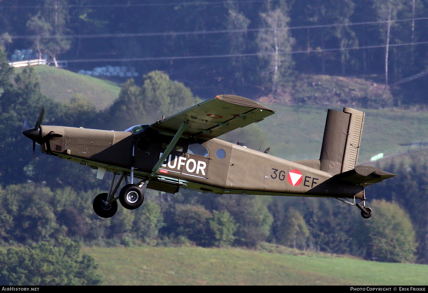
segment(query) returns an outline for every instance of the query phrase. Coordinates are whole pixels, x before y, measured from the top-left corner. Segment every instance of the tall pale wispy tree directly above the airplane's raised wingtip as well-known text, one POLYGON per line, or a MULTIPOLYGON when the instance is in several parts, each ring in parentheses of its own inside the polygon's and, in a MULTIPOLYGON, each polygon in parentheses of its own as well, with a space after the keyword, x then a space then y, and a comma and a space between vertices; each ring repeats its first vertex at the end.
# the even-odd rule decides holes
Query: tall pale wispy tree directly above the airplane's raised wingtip
POLYGON ((278 90, 278 85, 291 75, 294 66, 290 54, 294 39, 288 33, 288 12, 288 4, 281 1, 276 8, 272 8, 268 2, 265 12, 260 13, 262 30, 256 43, 261 52, 260 59, 264 60, 268 67, 273 93, 278 90))

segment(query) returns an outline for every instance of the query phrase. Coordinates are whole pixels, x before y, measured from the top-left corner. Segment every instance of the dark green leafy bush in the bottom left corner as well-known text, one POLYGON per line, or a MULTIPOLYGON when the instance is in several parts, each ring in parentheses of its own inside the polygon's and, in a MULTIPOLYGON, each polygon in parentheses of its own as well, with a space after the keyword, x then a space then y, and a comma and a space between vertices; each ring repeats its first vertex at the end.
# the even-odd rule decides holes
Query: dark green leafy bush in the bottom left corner
POLYGON ((93 257, 80 257, 80 245, 66 238, 0 251, 2 285, 98 285, 96 269, 93 257))

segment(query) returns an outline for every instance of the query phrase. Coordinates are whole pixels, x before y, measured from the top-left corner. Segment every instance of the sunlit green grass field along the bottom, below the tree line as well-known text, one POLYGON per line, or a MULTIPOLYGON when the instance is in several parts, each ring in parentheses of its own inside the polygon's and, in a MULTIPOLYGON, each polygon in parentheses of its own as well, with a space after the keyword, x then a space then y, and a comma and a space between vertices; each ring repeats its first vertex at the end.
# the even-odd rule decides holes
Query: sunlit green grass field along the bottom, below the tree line
POLYGON ((83 248, 104 285, 428 285, 428 266, 237 248, 83 248))

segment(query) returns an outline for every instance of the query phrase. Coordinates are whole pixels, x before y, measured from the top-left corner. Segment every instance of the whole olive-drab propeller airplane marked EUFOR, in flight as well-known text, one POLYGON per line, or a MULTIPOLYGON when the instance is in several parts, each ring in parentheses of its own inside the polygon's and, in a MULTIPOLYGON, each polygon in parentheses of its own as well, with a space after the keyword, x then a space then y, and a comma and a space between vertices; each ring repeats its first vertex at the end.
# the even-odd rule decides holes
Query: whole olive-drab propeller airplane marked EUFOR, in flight
POLYGON ((333 197, 356 205, 364 218, 364 188, 395 176, 375 167, 356 166, 364 112, 328 110, 319 160, 286 161, 216 137, 260 122, 274 111, 240 96, 220 95, 152 124, 125 131, 41 125, 24 135, 42 152, 106 171, 113 180, 108 193, 93 202, 97 215, 113 216, 117 199, 138 208, 146 188, 176 193, 188 188, 215 194, 265 194, 333 197), (115 183, 115 178, 120 179, 115 183), (126 185, 116 192, 125 178, 126 185), (350 200, 350 201, 347 201, 350 200), (356 200, 360 200, 356 203, 356 200))

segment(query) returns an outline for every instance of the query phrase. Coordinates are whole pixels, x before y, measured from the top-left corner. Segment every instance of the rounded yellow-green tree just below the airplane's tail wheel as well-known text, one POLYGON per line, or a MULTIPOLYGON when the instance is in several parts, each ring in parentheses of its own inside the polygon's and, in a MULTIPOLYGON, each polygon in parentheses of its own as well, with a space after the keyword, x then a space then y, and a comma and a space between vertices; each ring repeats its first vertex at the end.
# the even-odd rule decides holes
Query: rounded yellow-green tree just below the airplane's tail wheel
POLYGON ((396 203, 373 200, 376 216, 364 221, 372 258, 384 262, 413 262, 415 232, 409 216, 396 203))

